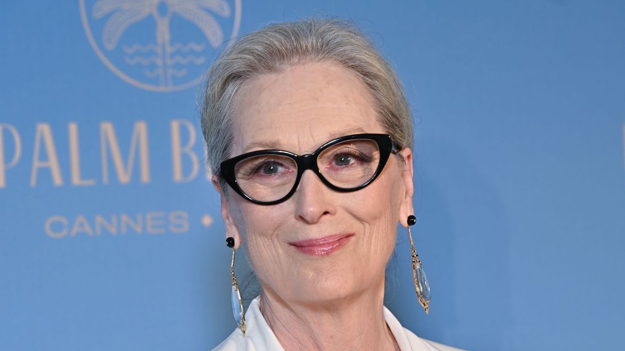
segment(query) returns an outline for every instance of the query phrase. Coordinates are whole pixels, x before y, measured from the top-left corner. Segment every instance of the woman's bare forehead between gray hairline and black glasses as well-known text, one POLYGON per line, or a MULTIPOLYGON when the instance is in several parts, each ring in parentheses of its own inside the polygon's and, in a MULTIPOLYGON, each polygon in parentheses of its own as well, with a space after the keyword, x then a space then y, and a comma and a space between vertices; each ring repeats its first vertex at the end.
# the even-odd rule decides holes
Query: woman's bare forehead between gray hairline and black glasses
POLYGON ((252 79, 234 101, 232 156, 260 149, 312 152, 334 137, 383 132, 365 84, 330 62, 252 79))

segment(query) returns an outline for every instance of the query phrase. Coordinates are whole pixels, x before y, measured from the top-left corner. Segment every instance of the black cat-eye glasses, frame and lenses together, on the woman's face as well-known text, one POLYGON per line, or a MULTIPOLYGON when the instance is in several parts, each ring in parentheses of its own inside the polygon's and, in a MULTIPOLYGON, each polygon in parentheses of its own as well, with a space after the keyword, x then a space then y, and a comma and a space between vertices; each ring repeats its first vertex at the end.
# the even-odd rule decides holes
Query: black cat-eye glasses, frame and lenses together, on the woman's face
POLYGON ((397 154, 397 146, 387 134, 353 134, 301 156, 282 150, 247 152, 221 162, 221 177, 245 199, 274 205, 294 194, 307 169, 330 189, 362 189, 382 172, 391 152, 397 154))

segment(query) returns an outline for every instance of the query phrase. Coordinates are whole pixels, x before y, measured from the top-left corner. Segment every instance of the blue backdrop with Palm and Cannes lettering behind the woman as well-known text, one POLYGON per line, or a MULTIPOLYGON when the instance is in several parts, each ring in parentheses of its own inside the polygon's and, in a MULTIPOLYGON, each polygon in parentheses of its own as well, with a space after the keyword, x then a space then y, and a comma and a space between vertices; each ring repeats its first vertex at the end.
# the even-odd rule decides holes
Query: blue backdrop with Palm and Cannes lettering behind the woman
MULTIPOLYGON (((11 1, 0 32, 0 349, 207 350, 235 327, 197 84, 267 22, 354 19, 416 121, 387 306, 470 350, 616 350, 625 2, 11 1)), ((237 262, 244 274, 245 262, 237 262)))

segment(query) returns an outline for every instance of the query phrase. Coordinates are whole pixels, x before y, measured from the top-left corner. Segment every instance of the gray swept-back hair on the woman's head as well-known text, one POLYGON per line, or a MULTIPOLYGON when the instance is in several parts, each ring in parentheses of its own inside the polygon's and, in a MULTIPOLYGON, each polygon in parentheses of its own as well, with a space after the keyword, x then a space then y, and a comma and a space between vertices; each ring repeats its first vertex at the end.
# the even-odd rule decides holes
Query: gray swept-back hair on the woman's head
MULTIPOLYGON (((250 79, 307 62, 334 62, 371 91, 379 123, 400 148, 414 144, 412 114, 396 72, 351 21, 310 18, 277 22, 242 36, 207 72, 200 107, 209 171, 220 174, 232 145, 232 104, 250 79)), ((221 189, 226 184, 220 178, 221 189)))

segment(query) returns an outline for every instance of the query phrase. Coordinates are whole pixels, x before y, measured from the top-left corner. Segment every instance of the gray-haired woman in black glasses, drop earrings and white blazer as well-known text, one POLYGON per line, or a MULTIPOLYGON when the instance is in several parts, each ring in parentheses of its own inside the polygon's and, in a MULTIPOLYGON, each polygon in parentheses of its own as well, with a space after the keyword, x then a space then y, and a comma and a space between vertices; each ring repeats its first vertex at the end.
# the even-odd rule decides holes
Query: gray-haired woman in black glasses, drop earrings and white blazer
POLYGON ((239 328, 215 350, 456 350, 383 305, 397 222, 414 224, 412 118, 360 31, 309 19, 242 37, 209 70, 201 114, 232 263, 244 245, 262 289, 243 315, 232 270, 239 328))

